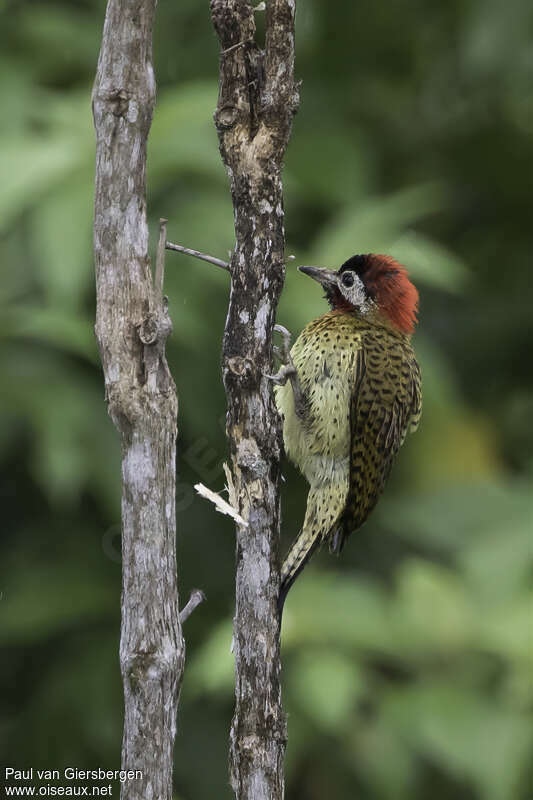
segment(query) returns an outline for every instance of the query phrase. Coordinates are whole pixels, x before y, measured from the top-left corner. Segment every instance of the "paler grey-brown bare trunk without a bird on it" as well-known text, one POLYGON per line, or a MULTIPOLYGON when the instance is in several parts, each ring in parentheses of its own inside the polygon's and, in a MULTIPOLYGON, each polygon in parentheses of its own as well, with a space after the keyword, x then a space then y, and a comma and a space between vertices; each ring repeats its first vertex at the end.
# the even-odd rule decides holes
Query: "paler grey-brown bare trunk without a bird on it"
POLYGON ((165 359, 164 225, 148 255, 146 143, 155 103, 156 0, 109 0, 96 81, 96 336, 122 443, 123 800, 171 800, 184 664, 175 552, 177 399, 165 359))

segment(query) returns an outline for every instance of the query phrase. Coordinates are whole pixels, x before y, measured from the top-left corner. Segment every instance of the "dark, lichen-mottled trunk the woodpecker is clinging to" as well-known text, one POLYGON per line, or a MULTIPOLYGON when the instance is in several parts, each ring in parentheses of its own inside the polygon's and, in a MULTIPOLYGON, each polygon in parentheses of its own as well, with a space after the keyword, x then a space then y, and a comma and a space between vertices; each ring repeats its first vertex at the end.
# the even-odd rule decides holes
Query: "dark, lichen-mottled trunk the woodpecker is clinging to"
POLYGON ((281 800, 279 526, 281 433, 272 387, 272 330, 285 277, 281 172, 292 116, 294 0, 267 0, 263 52, 248 0, 211 0, 221 45, 215 124, 235 216, 222 368, 237 525, 236 706, 230 777, 239 800, 281 800))

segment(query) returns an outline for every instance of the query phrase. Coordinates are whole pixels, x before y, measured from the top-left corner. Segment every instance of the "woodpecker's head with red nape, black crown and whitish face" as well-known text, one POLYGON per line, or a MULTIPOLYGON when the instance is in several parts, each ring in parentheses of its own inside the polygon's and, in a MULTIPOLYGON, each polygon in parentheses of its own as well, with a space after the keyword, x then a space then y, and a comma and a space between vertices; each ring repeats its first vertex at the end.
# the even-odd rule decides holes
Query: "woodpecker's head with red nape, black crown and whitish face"
POLYGON ((334 311, 378 313, 402 333, 413 333, 418 292, 405 267, 390 256, 352 256, 337 272, 322 267, 298 269, 324 287, 334 311))

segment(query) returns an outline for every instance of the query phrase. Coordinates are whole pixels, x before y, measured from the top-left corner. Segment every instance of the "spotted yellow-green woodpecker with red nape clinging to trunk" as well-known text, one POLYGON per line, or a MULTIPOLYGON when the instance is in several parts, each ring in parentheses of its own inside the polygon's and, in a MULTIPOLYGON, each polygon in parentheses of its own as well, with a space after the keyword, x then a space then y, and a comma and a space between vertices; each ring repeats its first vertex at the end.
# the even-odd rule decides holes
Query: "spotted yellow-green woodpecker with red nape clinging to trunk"
POLYGON ((390 256, 355 255, 338 271, 299 267, 325 290, 330 311, 290 348, 281 326, 271 377, 288 457, 309 483, 302 530, 283 563, 287 592, 324 542, 340 553, 376 505, 406 434, 422 409, 420 369, 410 340, 418 292, 390 256))

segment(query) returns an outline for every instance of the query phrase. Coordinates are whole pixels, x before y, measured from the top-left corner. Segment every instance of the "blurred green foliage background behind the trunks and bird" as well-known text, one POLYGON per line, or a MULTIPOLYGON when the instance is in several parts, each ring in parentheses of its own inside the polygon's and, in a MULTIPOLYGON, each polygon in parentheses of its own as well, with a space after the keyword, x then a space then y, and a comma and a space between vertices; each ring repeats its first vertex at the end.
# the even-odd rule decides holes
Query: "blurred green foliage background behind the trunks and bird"
MULTIPOLYGON (((0 752, 19 767, 120 763, 119 443, 91 253, 103 16, 102 0, 0 2, 0 752)), ((287 252, 410 268, 425 406, 371 520, 287 602, 289 800, 532 796, 532 17, 526 0, 299 5, 287 252)), ((169 238, 225 257, 207 2, 160 0, 155 62, 153 241, 166 216, 169 238)), ((185 631, 176 797, 229 798, 234 539, 192 489, 224 483, 228 277, 168 254, 166 290, 180 590, 208 596, 185 631)), ((289 265, 279 321, 323 310, 289 265)), ((306 496, 285 477, 284 547, 306 496)))

